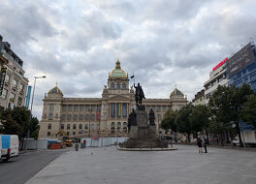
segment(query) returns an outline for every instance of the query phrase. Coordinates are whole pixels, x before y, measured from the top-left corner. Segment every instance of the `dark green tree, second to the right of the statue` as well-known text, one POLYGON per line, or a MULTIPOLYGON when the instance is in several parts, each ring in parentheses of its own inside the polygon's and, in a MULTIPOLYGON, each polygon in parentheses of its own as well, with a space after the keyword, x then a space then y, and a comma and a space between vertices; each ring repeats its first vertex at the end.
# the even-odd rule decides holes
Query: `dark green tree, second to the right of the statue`
POLYGON ((176 128, 179 133, 185 133, 188 136, 188 141, 190 142, 190 135, 192 133, 192 123, 191 123, 191 112, 193 105, 189 103, 187 106, 182 107, 176 116, 176 128))

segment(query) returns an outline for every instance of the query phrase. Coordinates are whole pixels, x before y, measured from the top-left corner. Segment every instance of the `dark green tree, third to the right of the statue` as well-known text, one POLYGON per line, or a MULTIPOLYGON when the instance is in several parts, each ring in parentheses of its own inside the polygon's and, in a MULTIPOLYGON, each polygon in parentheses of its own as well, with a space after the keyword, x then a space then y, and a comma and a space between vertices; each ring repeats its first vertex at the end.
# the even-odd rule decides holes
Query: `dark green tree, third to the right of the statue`
POLYGON ((209 110, 208 107, 204 105, 198 105, 192 107, 190 121, 191 121, 191 129, 194 135, 198 136, 198 132, 206 131, 208 136, 208 118, 209 118, 209 110))

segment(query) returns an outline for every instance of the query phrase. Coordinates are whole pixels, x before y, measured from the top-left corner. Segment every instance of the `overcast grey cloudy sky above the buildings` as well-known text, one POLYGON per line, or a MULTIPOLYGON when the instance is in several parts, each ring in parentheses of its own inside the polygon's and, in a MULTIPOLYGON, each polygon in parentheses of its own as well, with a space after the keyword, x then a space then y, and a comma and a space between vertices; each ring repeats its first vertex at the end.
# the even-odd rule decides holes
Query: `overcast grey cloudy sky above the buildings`
POLYGON ((101 97, 121 67, 146 98, 169 98, 175 85, 192 100, 211 69, 256 39, 255 0, 0 0, 0 34, 37 80, 33 112, 45 93, 101 97))

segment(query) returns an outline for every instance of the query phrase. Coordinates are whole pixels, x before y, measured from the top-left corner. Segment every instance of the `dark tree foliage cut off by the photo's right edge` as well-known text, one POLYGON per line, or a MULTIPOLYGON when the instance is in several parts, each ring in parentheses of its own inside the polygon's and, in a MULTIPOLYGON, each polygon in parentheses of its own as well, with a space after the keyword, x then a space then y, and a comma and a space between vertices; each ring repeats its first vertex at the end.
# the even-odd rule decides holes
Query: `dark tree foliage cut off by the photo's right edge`
POLYGON ((247 97, 247 101, 241 107, 241 119, 256 127, 256 95, 247 97))

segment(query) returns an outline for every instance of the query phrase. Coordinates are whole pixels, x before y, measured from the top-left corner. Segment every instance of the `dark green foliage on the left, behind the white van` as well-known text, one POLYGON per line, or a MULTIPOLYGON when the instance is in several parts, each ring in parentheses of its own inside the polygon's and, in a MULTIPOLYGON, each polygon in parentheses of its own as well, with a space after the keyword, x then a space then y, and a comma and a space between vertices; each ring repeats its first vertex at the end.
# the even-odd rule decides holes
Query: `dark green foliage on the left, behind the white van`
POLYGON ((31 138, 38 137, 39 121, 36 117, 31 118, 30 110, 25 107, 3 110, 0 120, 3 124, 0 128, 2 134, 13 134, 18 135, 19 138, 25 138, 29 130, 31 138))

